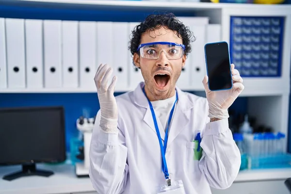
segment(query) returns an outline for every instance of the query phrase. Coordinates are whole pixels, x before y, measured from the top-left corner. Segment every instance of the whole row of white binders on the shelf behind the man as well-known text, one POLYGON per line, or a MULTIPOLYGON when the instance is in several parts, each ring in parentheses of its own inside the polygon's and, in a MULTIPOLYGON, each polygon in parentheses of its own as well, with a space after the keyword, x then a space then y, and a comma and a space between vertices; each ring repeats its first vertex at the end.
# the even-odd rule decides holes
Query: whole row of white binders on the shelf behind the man
MULTIPOLYGON (((180 19, 194 32, 196 41, 178 85, 203 87, 204 45, 220 41, 221 27, 209 24, 207 17, 180 19)), ((137 24, 0 18, 0 88, 92 89, 101 63, 113 67, 117 90, 134 88, 143 81, 128 49, 137 24)))

